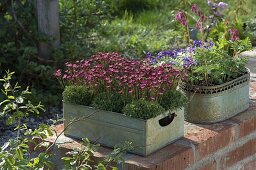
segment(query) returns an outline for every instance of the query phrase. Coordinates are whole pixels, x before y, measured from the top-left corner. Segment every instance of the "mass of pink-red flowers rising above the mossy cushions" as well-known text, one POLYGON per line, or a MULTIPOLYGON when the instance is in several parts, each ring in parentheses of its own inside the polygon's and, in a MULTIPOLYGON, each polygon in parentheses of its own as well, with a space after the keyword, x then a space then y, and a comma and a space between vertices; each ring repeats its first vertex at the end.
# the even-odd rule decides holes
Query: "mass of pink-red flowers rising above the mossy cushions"
POLYGON ((134 99, 157 100, 176 89, 185 78, 181 69, 170 64, 153 67, 143 60, 123 58, 119 53, 98 53, 89 59, 66 63, 66 70, 55 73, 65 82, 84 85, 100 92, 118 92, 134 99))

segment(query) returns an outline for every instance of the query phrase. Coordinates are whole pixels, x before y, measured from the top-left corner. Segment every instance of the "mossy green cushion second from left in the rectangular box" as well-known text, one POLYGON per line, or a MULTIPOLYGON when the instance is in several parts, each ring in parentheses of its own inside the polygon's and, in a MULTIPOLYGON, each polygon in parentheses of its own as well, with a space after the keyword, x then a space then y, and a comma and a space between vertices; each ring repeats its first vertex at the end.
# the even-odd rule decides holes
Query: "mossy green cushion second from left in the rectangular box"
POLYGON ((119 93, 103 92, 95 96, 92 105, 98 109, 121 113, 125 102, 119 93))

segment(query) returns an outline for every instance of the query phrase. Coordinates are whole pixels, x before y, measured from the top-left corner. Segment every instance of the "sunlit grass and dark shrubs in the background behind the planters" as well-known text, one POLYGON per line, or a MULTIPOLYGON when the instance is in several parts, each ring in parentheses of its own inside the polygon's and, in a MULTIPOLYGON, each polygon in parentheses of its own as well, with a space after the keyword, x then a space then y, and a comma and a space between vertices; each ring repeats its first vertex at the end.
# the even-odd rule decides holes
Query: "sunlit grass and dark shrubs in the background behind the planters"
MULTIPOLYGON (((66 61, 96 52, 121 52, 127 57, 143 57, 182 46, 183 37, 174 20, 178 9, 201 0, 60 0, 61 48, 47 60, 38 57, 38 41, 47 40, 37 32, 31 0, 0 2, 0 74, 10 69, 22 86, 30 86, 31 101, 46 105, 61 103, 61 86, 52 76, 66 61), (35 97, 36 96, 36 97, 35 97)), ((225 0, 230 13, 247 23, 251 38, 256 37, 256 4, 253 0, 225 0), (243 10, 238 3, 245 3, 243 10), (245 10, 245 11, 244 11, 245 10)), ((1 97, 0 97, 1 98, 1 97)))

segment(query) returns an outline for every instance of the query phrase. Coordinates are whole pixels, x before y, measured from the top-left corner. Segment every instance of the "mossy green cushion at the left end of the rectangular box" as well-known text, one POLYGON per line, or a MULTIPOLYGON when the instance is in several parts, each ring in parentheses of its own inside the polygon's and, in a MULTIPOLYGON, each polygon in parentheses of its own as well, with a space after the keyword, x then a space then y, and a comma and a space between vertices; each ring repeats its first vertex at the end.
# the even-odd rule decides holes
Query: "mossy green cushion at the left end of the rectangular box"
POLYGON ((85 86, 66 86, 63 92, 63 101, 73 104, 90 106, 93 100, 93 91, 85 86))

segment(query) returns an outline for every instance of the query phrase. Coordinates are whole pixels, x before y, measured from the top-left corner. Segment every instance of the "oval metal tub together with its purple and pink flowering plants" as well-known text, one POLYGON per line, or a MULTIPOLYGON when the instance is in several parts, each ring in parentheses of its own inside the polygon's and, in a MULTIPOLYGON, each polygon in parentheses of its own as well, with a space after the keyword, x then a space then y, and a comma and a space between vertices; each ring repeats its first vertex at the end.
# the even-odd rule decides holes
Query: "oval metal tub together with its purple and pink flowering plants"
POLYGON ((187 47, 150 56, 153 65, 180 60, 189 66, 182 86, 189 98, 185 119, 195 123, 219 122, 249 107, 247 59, 240 54, 251 49, 250 39, 240 34, 232 17, 225 15, 228 4, 207 3, 208 12, 196 4, 191 5, 190 12, 177 12, 187 47), (195 40, 190 36, 193 24, 195 40))

